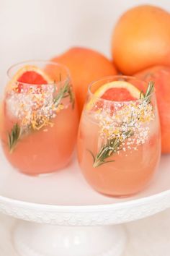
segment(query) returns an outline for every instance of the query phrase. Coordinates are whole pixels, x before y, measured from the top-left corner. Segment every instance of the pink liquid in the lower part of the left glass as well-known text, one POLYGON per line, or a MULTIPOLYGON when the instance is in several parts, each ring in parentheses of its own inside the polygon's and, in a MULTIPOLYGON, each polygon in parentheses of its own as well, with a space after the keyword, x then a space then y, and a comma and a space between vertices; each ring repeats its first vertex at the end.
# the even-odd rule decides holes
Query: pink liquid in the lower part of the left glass
POLYGON ((5 105, 2 113, 1 140, 9 163, 24 174, 47 174, 63 168, 71 160, 76 142, 78 118, 71 104, 52 119, 50 125, 23 135, 12 153, 9 151, 8 132, 17 119, 9 116, 5 105))

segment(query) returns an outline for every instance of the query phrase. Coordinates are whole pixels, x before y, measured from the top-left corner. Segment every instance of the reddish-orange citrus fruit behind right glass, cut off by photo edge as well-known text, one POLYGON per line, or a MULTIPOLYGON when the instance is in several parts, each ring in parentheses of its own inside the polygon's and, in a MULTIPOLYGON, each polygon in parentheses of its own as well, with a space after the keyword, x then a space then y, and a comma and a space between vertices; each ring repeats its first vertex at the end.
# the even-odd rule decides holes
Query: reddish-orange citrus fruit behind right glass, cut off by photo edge
POLYGON ((170 67, 156 66, 135 74, 139 79, 153 80, 161 121, 162 153, 170 153, 170 67))

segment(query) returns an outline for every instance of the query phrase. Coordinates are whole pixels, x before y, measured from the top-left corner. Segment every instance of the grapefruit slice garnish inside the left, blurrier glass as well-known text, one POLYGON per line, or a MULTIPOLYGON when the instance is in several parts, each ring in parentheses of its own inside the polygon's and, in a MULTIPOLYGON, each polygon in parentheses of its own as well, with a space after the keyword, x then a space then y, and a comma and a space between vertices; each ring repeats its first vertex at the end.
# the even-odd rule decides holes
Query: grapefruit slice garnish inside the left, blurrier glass
POLYGON ((12 80, 7 85, 7 90, 15 88, 18 93, 21 93, 22 88, 24 88, 26 84, 28 86, 39 85, 37 88, 40 88, 40 85, 53 84, 53 80, 51 80, 42 69, 27 65, 14 74, 14 77, 12 77, 12 80))

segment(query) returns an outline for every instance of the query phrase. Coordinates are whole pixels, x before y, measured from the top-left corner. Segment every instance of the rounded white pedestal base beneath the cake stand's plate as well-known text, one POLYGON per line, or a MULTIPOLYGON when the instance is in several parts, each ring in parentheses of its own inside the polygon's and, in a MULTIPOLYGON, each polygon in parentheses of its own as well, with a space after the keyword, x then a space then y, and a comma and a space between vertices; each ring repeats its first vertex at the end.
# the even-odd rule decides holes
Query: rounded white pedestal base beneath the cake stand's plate
POLYGON ((113 256, 125 247, 120 226, 50 226, 20 223, 14 244, 23 256, 113 256))

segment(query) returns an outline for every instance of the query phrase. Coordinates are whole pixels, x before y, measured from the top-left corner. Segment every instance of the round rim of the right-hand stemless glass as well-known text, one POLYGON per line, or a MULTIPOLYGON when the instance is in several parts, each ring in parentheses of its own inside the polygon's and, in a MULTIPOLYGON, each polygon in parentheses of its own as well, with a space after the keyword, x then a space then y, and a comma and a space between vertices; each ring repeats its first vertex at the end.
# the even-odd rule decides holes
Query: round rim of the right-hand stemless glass
MULTIPOLYGON (((147 84, 148 82, 146 82, 145 80, 141 80, 141 79, 138 79, 137 77, 133 77, 133 76, 128 76, 128 75, 123 75, 123 74, 116 74, 116 75, 110 75, 110 76, 106 76, 106 77, 102 77, 101 79, 99 80, 95 80, 93 82, 91 82, 89 84, 89 87, 88 87, 88 94, 91 95, 92 98, 96 98, 98 99, 99 101, 104 101, 106 103, 112 103, 112 104, 118 104, 118 103, 124 103, 124 104, 127 104, 127 103, 132 103, 132 102, 138 102, 138 101, 141 101, 140 98, 137 98, 135 100, 130 100, 130 101, 112 101, 112 100, 107 100, 107 99, 104 99, 104 98, 100 98, 98 97, 97 95, 94 95, 94 93, 91 91, 91 88, 92 86, 97 83, 97 82, 102 82, 102 80, 112 80, 112 79, 116 79, 115 81, 118 81, 118 79, 132 79, 132 80, 135 80, 135 81, 140 81, 140 82, 143 82, 145 84, 147 84)), ((121 80, 120 80, 121 81, 121 80)), ((122 80, 124 81, 124 80, 122 80)), ((108 82, 112 82, 112 81, 108 81, 108 82)), ((102 85, 101 85, 102 86, 102 85)), ((134 85, 135 86, 135 85, 134 85)), ((143 91, 140 91, 140 92, 143 92, 143 91)), ((156 93, 156 90, 155 90, 155 87, 153 88, 153 92, 150 94, 150 97, 152 97, 153 95, 155 95, 156 93)))

